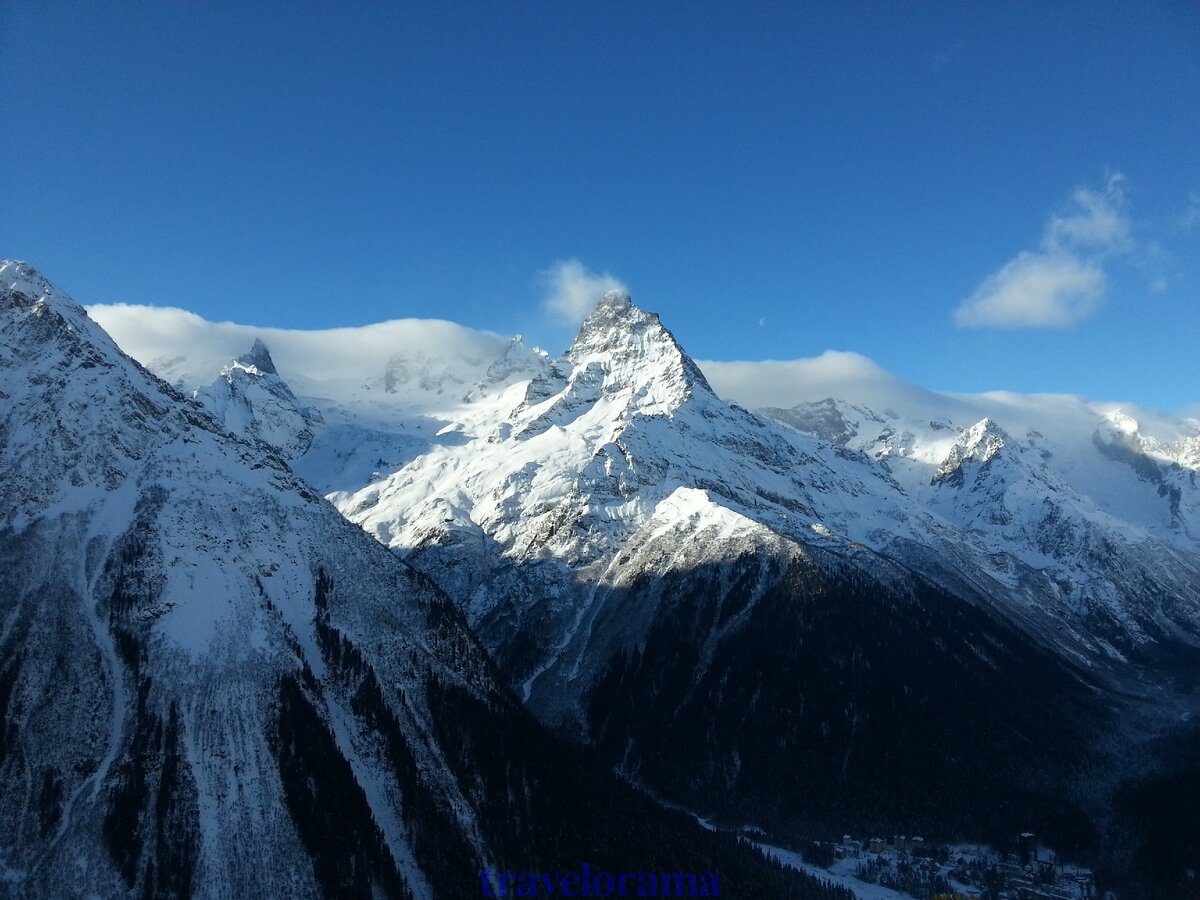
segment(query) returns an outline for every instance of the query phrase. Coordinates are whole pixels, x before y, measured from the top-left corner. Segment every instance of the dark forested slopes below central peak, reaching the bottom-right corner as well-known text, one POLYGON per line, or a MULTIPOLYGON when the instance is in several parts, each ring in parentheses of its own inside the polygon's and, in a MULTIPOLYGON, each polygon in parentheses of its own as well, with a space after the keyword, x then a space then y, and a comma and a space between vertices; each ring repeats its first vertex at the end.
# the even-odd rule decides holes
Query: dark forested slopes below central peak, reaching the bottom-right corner
MULTIPOLYGON (((791 560, 756 586, 760 562, 620 592, 613 614, 648 599, 655 613, 584 697, 582 734, 602 758, 786 845, 899 833, 1014 848, 1034 832, 1122 898, 1194 896, 1190 718, 1164 724, 1111 673, 911 572, 889 583, 845 559, 791 560), (756 587, 732 636, 695 637, 756 587)), ((1159 685, 1200 672, 1183 652, 1156 662, 1159 685)))

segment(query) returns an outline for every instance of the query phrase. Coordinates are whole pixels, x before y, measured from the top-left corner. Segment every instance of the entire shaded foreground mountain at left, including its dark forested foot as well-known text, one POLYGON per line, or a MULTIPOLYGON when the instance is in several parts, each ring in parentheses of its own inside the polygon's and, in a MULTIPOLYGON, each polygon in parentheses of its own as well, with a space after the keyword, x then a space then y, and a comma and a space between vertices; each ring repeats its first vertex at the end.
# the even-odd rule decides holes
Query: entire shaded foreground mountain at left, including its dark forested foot
POLYGON ((460 898, 587 863, 846 896, 552 737, 270 446, 0 280, 0 894, 460 898))

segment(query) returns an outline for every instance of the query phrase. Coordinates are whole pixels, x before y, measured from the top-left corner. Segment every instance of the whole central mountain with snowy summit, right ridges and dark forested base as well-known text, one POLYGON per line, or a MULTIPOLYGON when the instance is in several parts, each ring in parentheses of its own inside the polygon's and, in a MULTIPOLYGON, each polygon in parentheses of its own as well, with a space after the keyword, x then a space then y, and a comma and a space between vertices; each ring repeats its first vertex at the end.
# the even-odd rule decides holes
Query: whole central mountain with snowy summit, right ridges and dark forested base
POLYGON ((1134 732, 1195 708, 1200 424, 930 392, 751 413, 619 293, 518 356, 452 402, 418 384, 390 456, 314 401, 293 464, 662 796, 793 836, 1086 844, 1134 732))

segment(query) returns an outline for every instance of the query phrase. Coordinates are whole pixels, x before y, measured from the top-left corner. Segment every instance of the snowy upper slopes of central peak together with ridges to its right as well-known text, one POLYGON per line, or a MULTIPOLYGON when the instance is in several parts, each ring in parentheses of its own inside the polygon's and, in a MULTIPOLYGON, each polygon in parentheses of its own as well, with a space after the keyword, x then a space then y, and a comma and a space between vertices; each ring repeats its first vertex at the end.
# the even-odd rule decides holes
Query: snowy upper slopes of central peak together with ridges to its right
MULTIPOLYGON (((865 546, 918 570, 936 558, 998 608, 1066 629, 1062 640, 1088 652, 1196 640, 1200 563, 1187 502, 1174 518, 1150 508, 1142 521, 1121 518, 1050 467, 1040 436, 1018 442, 990 419, 918 427, 835 401, 768 413, 792 427, 721 402, 658 317, 613 294, 488 430, 476 424, 466 443, 431 448, 334 499, 462 598, 502 659, 510 644, 522 648, 510 662, 535 706, 558 708, 564 694, 587 690, 580 644, 596 640, 598 592, 628 580, 629 560, 656 535, 670 534, 662 553, 635 575, 661 574, 673 559, 695 565, 679 545, 726 558, 706 540, 718 522, 740 522, 763 546, 865 546), (538 571, 539 587, 516 568, 538 571), (583 598, 578 582, 592 586, 583 598), (577 684, 558 683, 564 665, 577 684)), ((1112 466, 1092 442, 1080 452, 1112 466)), ((593 649, 600 659, 612 650, 593 649)))

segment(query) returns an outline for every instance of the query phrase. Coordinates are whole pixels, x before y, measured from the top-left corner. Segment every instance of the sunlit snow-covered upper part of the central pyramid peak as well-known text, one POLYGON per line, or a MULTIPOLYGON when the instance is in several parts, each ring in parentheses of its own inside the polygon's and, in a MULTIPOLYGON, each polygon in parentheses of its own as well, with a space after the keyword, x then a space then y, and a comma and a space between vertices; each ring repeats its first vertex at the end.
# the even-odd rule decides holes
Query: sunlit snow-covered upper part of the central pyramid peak
POLYGON ((419 554, 502 656, 510 642, 544 642, 516 665, 527 695, 545 680, 545 703, 564 700, 547 673, 578 672, 574 644, 590 640, 595 595, 619 587, 634 554, 635 574, 661 574, 690 564, 677 545, 692 532, 775 542, 774 528, 838 544, 911 533, 878 470, 722 403, 626 295, 608 295, 570 350, 506 398, 478 437, 334 499, 419 554), (582 604, 580 581, 592 586, 582 604))

